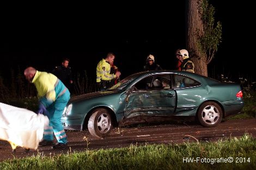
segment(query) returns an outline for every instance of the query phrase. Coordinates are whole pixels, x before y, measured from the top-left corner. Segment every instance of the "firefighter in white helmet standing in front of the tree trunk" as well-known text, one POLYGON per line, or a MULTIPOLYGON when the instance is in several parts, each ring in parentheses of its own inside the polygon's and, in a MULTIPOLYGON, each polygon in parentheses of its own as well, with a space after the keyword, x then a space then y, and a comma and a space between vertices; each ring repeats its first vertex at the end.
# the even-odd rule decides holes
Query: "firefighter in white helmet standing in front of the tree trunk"
POLYGON ((194 63, 186 49, 176 51, 176 58, 178 59, 178 70, 194 73, 194 63))

